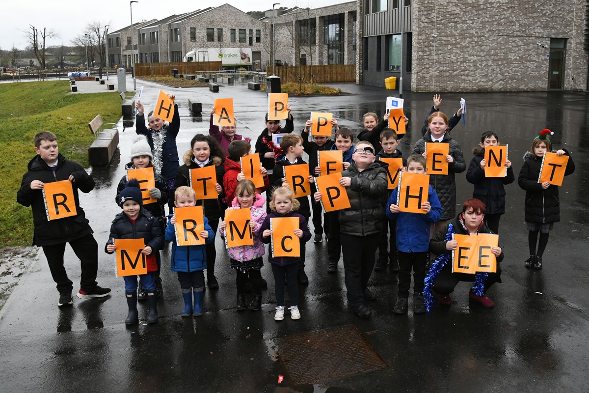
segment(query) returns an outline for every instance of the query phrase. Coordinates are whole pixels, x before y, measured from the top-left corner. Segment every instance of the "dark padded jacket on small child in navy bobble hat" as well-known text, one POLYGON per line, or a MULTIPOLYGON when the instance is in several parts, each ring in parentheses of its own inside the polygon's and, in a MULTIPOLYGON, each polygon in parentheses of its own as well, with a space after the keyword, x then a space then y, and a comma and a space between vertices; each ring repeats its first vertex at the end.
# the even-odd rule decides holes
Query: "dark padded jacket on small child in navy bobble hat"
POLYGON ((141 207, 135 224, 131 222, 125 212, 118 213, 111 224, 108 242, 104 245, 104 252, 107 246, 112 245, 112 239, 143 239, 145 247, 150 246, 154 252, 158 252, 164 246, 164 234, 161 232, 160 222, 144 207, 141 207))

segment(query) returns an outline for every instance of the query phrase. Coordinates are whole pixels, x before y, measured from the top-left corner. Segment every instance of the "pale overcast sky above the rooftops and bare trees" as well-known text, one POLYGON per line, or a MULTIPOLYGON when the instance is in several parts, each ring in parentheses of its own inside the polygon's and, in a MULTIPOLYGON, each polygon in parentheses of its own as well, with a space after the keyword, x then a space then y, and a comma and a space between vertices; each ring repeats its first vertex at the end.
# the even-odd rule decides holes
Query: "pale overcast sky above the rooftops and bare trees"
MULTIPOLYGON (((265 11, 272 9, 273 2, 280 2, 277 7, 319 8, 343 3, 346 0, 139 0, 133 4, 133 21, 163 19, 169 15, 225 3, 241 11, 265 11)), ((71 39, 83 32, 84 27, 92 21, 101 22, 102 25, 110 24, 109 31, 131 24, 128 0, 31 0, 23 3, 2 1, 2 15, 4 19, 0 24, 0 48, 4 50, 11 49, 13 45, 19 49, 27 47, 28 41, 24 31, 28 30, 29 25, 57 32, 59 37, 51 39, 47 45, 49 46, 71 45, 71 39)))

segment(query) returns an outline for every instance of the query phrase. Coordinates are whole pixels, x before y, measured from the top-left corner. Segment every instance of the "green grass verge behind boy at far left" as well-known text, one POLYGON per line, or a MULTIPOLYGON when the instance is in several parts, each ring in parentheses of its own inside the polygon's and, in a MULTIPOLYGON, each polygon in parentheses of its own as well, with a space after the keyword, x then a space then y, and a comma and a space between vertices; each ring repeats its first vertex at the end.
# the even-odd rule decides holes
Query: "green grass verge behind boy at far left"
POLYGON ((0 247, 31 245, 31 208, 16 202, 16 191, 35 156, 34 135, 51 131, 59 153, 88 167, 88 146, 94 140, 88 123, 97 114, 105 123, 117 123, 121 97, 116 92, 71 94, 69 81, 2 83, 0 96, 0 247))

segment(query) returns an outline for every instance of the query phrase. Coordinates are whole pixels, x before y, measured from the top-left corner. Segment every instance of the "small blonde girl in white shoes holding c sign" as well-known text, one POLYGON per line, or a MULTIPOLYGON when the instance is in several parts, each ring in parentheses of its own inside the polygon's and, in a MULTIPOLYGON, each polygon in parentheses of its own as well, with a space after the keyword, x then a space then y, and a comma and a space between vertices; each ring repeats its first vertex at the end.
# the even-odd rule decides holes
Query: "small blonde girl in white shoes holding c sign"
MULTIPOLYGON (((272 230, 270 229, 270 220, 276 217, 296 217, 299 219, 299 228, 295 229, 293 234, 299 238, 299 242, 306 243, 311 239, 311 232, 309 231, 309 224, 301 214, 297 213, 299 209, 299 201, 294 199, 293 191, 290 188, 278 187, 272 194, 272 202, 270 202, 270 212, 262 227, 262 243, 270 243, 272 241, 272 230)), ((290 235, 290 234, 289 234, 290 235)), ((292 236, 290 236, 292 237, 292 236)), ((286 284, 289 290, 290 298, 290 318, 300 319, 299 312, 299 287, 297 285, 297 273, 299 272, 300 256, 272 256, 272 251, 268 256, 268 262, 272 265, 272 273, 274 275, 274 293, 276 295, 276 313, 274 314, 275 321, 282 321, 284 319, 284 285, 286 284)))

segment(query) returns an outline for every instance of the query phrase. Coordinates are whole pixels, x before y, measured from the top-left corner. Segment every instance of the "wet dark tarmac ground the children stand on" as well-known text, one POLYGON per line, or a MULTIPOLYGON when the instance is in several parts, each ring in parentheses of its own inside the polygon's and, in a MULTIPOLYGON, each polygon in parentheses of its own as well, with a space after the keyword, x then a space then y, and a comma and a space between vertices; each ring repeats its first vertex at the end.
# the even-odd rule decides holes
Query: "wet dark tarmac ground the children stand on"
MULTIPOLYGON (((127 81, 132 86, 133 81, 127 81)), ((160 87, 145 85, 143 103, 152 104, 160 87)), ((354 95, 290 98, 296 130, 310 111, 332 111, 340 126, 358 129, 362 114, 383 113, 392 91, 339 85, 354 95), (378 110, 380 108, 380 110, 378 110)), ((238 133, 254 141, 264 128, 264 93, 245 85, 204 88, 163 88, 180 105, 180 156, 195 133, 207 133, 214 98, 232 97, 238 133), (193 117, 188 98, 203 103, 203 117, 193 117)), ((408 135, 399 146, 405 156, 418 138, 432 94, 405 94, 405 113, 411 118, 408 135)), ((502 284, 489 290, 495 308, 469 303, 468 283, 459 283, 448 308, 436 305, 426 315, 396 316, 396 275, 375 272, 370 288, 373 316, 360 320, 350 311, 343 285, 343 266, 328 275, 326 242, 307 243, 310 283, 300 287, 302 318, 273 319, 274 284, 270 267, 262 269, 269 283, 261 312, 237 313, 234 272, 217 239, 217 291, 207 290, 204 315, 181 318, 183 301, 176 274, 163 269, 164 296, 158 302, 160 320, 148 326, 146 306, 140 307, 139 326, 125 328, 127 314, 123 280, 115 278, 112 257, 100 252, 98 282, 112 289, 105 299, 80 300, 58 309, 58 293, 44 256, 21 280, 2 309, 0 320, 0 391, 10 392, 586 392, 589 391, 589 268, 587 233, 589 209, 585 202, 589 164, 589 95, 583 93, 471 93, 443 94, 442 111, 453 113, 459 98, 467 103, 466 124, 452 137, 464 151, 466 163, 483 131, 494 130, 509 144, 509 158, 517 176, 522 156, 542 128, 555 132, 555 147, 570 150, 577 171, 561 190, 561 222, 555 224, 544 253, 544 269, 524 268, 528 257, 524 224, 524 192, 506 186, 507 213, 501 219, 499 241, 505 251, 502 284), (300 333, 354 325, 385 363, 384 368, 350 377, 338 377, 325 364, 323 379, 294 386, 285 372, 277 344, 300 333), (279 375, 284 381, 278 383, 279 375)), ((122 129, 122 126, 120 127, 122 129)), ((97 187, 81 194, 99 248, 108 238, 115 188, 128 161, 133 130, 120 135, 120 156, 107 168, 93 169, 97 187)), ((458 202, 472 196, 465 174, 456 176, 458 202)), ((169 266, 170 248, 163 251, 169 266)), ((74 283, 80 266, 68 247, 66 267, 74 283)), ((78 287, 74 284, 74 290, 78 287)), ((336 349, 333 349, 335 352, 336 349)), ((351 354, 350 356, 354 356, 351 354)), ((317 368, 310 351, 300 368, 317 368)))

